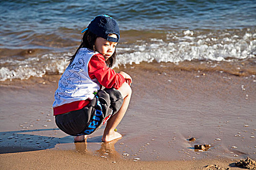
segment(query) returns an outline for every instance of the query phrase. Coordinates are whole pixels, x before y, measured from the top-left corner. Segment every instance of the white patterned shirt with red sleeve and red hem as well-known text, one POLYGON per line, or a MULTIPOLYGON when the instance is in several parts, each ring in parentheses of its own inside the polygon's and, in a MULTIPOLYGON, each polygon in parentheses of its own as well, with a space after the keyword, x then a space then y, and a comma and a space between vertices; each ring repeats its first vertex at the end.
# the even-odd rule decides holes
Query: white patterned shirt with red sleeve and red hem
POLYGON ((59 79, 53 103, 54 116, 89 104, 100 85, 118 89, 124 82, 121 74, 107 67, 102 54, 81 48, 59 79))

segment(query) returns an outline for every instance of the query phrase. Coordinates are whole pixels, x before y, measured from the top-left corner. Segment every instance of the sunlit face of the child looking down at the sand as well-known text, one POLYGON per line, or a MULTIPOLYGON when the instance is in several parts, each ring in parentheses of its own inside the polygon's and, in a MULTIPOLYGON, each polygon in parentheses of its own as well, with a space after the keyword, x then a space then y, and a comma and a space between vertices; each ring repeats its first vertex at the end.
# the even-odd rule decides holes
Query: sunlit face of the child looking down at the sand
MULTIPOLYGON (((113 38, 118 38, 116 34, 111 34, 109 36, 113 38)), ((107 60, 115 52, 117 44, 118 44, 117 42, 107 41, 104 38, 98 37, 96 38, 96 41, 95 41, 95 48, 107 60)))

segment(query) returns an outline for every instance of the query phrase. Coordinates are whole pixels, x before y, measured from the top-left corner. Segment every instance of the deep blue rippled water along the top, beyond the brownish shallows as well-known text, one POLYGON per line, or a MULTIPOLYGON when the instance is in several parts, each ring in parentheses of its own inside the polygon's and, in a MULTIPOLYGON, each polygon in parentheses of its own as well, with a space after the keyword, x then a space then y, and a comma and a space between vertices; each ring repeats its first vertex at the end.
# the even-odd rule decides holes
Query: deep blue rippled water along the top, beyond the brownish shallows
POLYGON ((99 14, 120 29, 236 29, 256 26, 256 0, 1 0, 1 34, 87 26, 99 14))

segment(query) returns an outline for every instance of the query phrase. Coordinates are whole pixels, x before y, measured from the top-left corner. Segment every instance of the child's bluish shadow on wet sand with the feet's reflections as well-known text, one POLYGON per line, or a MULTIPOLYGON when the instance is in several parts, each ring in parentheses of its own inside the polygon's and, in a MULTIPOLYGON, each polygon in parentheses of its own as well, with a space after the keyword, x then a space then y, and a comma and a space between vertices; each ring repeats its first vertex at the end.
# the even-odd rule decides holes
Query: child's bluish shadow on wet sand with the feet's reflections
MULTIPOLYGON (((39 151, 45 149, 55 148, 56 144, 70 143, 75 144, 76 150, 79 153, 87 152, 87 143, 100 143, 102 136, 95 136, 88 138, 87 141, 81 143, 74 143, 73 136, 53 137, 43 135, 31 135, 31 133, 39 133, 44 131, 57 131, 56 129, 36 129, 36 130, 22 130, 0 132, 0 154, 2 153, 18 153, 28 151, 39 151)), ((115 143, 112 142, 101 143, 101 148, 96 151, 99 155, 106 153, 117 153, 115 151, 115 143)), ((117 153, 118 154, 118 153, 117 153)))

